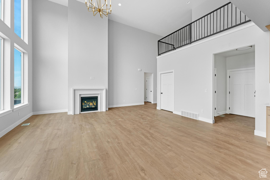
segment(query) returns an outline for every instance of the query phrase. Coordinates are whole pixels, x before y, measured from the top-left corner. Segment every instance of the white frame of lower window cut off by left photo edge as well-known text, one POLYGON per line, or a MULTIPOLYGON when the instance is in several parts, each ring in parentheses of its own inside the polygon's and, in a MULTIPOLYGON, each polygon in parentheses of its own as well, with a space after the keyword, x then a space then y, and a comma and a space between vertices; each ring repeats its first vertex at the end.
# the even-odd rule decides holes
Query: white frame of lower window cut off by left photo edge
POLYGON ((3 93, 3 74, 4 74, 4 39, 0 36, 0 111, 4 110, 3 106, 4 106, 4 101, 3 101, 3 97, 4 97, 4 93, 3 93))

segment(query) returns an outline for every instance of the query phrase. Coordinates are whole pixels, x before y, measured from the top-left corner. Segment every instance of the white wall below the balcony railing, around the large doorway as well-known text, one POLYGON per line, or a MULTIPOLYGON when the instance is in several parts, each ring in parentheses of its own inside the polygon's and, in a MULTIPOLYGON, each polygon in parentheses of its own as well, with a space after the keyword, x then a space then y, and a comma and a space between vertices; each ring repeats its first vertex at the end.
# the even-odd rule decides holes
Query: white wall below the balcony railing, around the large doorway
POLYGON ((263 104, 269 102, 269 32, 263 32, 252 22, 158 57, 157 72, 175 70, 175 111, 197 112, 200 120, 211 122, 214 110, 213 54, 248 45, 256 45, 255 134, 265 134, 266 108, 263 104), (200 113, 202 109, 204 113, 200 113))

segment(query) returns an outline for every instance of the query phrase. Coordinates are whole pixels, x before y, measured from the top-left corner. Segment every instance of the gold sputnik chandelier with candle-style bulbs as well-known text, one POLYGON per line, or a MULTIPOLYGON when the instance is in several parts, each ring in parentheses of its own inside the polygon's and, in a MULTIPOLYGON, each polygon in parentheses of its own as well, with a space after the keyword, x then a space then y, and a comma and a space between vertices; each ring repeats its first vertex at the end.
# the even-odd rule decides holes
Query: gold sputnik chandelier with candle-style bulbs
MULTIPOLYGON (((95 0, 94 0, 94 1, 95 1, 95 0)), ((101 0, 97 0, 97 7, 96 7, 96 6, 95 6, 95 2, 94 2, 94 4, 93 4, 93 3, 92 3, 92 0, 91 0, 91 2, 90 2, 90 0, 89 0, 88 4, 87 4, 87 0, 85 0, 85 5, 86 5, 86 7, 88 8, 88 12, 93 12, 93 15, 94 15, 94 16, 95 16, 97 13, 99 13, 100 18, 103 18, 103 15, 106 16, 106 17, 108 17, 108 14, 112 13, 111 0, 110 0, 110 8, 109 8, 109 9, 108 9, 107 3, 108 3, 108 0, 105 0, 104 5, 101 4, 101 0), (91 6, 89 6, 89 3, 90 3, 91 6), (105 7, 104 7, 105 4, 106 4, 106 9, 105 9, 105 7), (104 8, 103 8, 103 7, 104 7, 104 8), (89 10, 89 8, 90 8, 91 10, 89 10), (108 10, 110 10, 110 12, 108 12, 108 10)))

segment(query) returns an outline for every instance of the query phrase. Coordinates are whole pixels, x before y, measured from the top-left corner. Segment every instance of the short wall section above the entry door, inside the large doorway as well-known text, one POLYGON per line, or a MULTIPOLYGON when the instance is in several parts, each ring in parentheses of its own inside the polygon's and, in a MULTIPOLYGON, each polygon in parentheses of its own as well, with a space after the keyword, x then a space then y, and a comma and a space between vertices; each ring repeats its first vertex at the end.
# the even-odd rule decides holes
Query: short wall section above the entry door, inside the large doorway
POLYGON ((227 57, 227 70, 245 67, 255 67, 255 52, 227 57))

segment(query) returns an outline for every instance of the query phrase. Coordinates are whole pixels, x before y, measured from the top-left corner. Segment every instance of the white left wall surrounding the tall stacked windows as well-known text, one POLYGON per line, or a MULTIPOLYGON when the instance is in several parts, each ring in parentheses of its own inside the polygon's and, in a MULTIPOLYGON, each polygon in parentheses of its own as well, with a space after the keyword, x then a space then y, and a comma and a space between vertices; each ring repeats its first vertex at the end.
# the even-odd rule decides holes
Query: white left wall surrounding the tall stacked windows
POLYGON ((0 20, 0 36, 4 38, 4 110, 11 112, 0 117, 0 137, 32 116, 32 0, 24 1, 23 5, 24 40, 14 33, 14 1, 5 1, 5 22, 0 20), (23 103, 29 103, 17 111, 14 111, 14 44, 24 51, 23 103))

